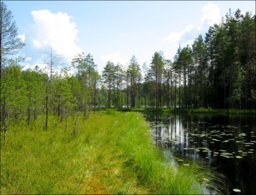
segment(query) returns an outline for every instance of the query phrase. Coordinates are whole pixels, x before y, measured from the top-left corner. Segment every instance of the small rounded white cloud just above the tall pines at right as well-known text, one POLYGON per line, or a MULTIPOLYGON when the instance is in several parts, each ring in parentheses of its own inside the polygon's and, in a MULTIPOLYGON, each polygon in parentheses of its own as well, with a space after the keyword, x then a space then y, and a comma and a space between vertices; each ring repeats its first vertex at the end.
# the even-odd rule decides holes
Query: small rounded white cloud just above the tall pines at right
POLYGON ((205 22, 207 25, 211 26, 216 23, 219 23, 220 19, 222 18, 222 16, 220 15, 220 8, 212 2, 203 6, 201 12, 203 15, 202 18, 200 19, 201 25, 197 27, 198 30, 202 28, 205 22))

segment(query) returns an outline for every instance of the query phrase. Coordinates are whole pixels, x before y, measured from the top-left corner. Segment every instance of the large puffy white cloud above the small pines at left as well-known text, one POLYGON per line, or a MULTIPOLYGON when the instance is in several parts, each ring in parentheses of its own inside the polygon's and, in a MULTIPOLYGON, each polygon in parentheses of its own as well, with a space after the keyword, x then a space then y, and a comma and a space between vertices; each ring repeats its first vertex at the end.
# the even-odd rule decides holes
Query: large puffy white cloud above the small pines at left
POLYGON ((49 10, 32 11, 31 14, 36 30, 33 39, 35 48, 52 46, 68 62, 82 52, 77 45, 78 30, 75 22, 71 22, 71 16, 62 12, 54 14, 49 10))

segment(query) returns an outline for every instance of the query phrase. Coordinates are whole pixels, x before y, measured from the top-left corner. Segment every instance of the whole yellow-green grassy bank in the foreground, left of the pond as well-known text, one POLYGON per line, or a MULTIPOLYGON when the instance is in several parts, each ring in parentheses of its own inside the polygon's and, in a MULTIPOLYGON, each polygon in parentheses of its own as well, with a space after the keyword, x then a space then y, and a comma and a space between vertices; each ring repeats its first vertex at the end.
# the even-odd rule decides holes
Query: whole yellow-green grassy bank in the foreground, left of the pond
POLYGON ((139 113, 98 111, 68 124, 65 132, 51 117, 44 131, 42 120, 21 121, 5 144, 1 132, 1 194, 202 194, 210 185, 197 164, 167 164, 139 113))

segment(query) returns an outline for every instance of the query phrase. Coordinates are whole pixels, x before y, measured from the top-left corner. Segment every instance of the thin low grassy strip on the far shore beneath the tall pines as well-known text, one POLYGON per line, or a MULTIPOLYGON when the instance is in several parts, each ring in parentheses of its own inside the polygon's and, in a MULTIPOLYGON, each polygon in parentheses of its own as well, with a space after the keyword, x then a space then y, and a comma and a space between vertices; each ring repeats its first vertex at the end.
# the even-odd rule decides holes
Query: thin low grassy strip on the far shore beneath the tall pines
POLYGON ((144 108, 144 107, 136 107, 136 108, 123 108, 119 109, 123 112, 173 112, 173 113, 222 113, 222 114, 245 114, 251 115, 256 114, 256 110, 239 110, 239 109, 211 109, 211 108, 144 108))

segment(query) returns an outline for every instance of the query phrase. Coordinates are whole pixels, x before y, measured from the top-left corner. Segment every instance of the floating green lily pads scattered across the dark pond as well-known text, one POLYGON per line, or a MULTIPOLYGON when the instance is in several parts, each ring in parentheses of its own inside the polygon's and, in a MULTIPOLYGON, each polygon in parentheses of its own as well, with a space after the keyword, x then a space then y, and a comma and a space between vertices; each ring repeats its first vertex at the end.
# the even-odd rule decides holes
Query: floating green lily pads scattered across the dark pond
MULTIPOLYGON (((246 121, 249 126, 245 126, 243 121, 237 121, 232 117, 227 118, 227 120, 219 120, 222 124, 214 124, 217 120, 212 120, 211 116, 209 118, 203 116, 205 120, 211 121, 211 123, 203 120, 195 122, 198 120, 197 117, 191 117, 191 120, 195 121, 181 120, 181 118, 180 116, 175 119, 170 118, 170 123, 165 125, 166 127, 161 124, 155 132, 152 130, 153 136, 158 135, 157 142, 159 145, 173 151, 175 155, 200 159, 202 162, 210 162, 211 165, 217 164, 219 167, 225 167, 225 162, 233 163, 233 167, 237 167, 242 165, 244 161, 255 160, 255 122, 246 121), (165 144, 167 141, 168 144, 165 144)), ((181 160, 178 161, 181 162, 181 160)), ((184 162, 181 165, 189 166, 184 162)), ((203 182, 208 181, 203 179, 203 182)), ((232 191, 233 189, 229 188, 229 190, 232 191)))

